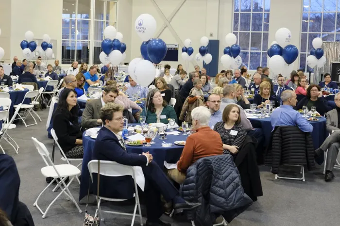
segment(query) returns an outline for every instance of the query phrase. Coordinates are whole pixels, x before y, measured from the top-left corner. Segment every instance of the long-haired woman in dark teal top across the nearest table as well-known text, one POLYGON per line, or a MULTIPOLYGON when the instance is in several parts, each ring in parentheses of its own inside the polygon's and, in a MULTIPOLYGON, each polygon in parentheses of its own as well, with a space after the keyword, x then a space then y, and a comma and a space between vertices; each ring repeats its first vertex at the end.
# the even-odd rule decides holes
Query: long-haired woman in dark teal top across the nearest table
MULTIPOLYGON (((159 123, 168 124, 169 118, 175 119, 177 123, 177 115, 175 110, 167 102, 164 101, 162 94, 157 89, 153 89, 149 92, 146 98, 146 106, 148 111, 145 115, 146 123, 159 123)), ((146 111, 145 111, 146 112, 146 111)))

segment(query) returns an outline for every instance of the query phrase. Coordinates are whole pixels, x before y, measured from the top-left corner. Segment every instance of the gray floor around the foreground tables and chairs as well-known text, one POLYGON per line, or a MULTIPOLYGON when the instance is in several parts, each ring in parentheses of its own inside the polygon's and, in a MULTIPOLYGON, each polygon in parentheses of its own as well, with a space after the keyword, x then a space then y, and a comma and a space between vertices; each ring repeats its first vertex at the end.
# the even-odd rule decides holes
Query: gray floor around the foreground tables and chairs
MULTIPOLYGON (((17 129, 9 134, 20 146, 19 154, 5 142, 1 145, 6 152, 13 156, 21 178, 20 200, 29 207, 36 226, 79 226, 82 225, 84 213, 79 213, 76 207, 65 199, 65 195, 51 207, 47 217, 42 219, 40 212, 33 206, 37 195, 47 185, 40 169, 44 166, 40 155, 34 148, 31 137, 37 138, 51 150, 51 139, 47 138, 46 120, 48 111, 39 111, 42 122, 37 126, 25 128, 21 123, 17 129)), ((60 153, 56 151, 56 163, 61 163, 60 153)), ((340 170, 335 170, 335 180, 326 183, 323 180, 322 167, 314 172, 306 173, 306 182, 292 180, 275 180, 268 167, 261 167, 261 180, 264 196, 260 197, 248 210, 239 215, 230 226, 309 226, 309 225, 339 225, 340 214, 340 170)), ((74 181, 71 185, 71 193, 78 199, 79 185, 74 181)), ((45 210, 57 193, 51 189, 43 194, 40 206, 45 210)), ((104 205, 105 206, 105 205, 104 205)), ((80 206, 85 210, 85 205, 80 206)), ((105 209, 105 208, 103 208, 105 209)), ((110 206, 110 209, 132 211, 129 204, 110 206)), ((90 207, 90 212, 94 212, 90 207)), ((142 210, 143 211, 143 210, 142 210)), ((144 214, 145 215, 145 214, 144 214)), ((107 226, 128 226, 130 217, 113 216, 105 214, 107 226)), ((163 216, 162 219, 171 222, 173 226, 189 226, 182 218, 170 219, 163 216)), ((144 218, 145 221, 145 218, 144 218)), ((136 220, 135 225, 138 224, 136 220)))

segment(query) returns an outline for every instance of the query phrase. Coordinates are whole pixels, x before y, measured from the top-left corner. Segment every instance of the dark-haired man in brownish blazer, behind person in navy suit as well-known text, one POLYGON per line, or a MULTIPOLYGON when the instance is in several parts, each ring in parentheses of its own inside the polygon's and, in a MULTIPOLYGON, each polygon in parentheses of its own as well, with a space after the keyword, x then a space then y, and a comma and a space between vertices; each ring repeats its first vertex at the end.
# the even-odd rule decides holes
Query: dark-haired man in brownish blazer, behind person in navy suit
POLYGON ((117 96, 118 90, 114 86, 108 85, 102 92, 102 98, 87 101, 82 115, 82 127, 88 129, 102 126, 100 110, 105 104, 113 103, 117 96))

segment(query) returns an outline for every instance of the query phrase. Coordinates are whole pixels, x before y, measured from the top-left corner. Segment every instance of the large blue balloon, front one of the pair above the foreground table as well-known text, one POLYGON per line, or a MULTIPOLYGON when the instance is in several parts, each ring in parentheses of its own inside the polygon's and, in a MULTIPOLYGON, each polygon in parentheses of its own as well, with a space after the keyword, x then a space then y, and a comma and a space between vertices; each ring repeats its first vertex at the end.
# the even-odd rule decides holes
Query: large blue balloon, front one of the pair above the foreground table
POLYGON ((160 38, 151 39, 146 48, 153 64, 159 64, 167 55, 167 44, 160 38))

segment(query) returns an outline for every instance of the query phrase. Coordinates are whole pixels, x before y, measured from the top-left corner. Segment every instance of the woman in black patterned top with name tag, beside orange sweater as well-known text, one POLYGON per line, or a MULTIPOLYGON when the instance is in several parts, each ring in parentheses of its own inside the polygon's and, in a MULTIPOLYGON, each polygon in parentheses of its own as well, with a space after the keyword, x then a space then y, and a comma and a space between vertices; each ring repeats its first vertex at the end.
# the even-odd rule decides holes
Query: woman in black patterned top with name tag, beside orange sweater
POLYGON ((230 154, 234 158, 247 135, 240 122, 241 117, 238 106, 229 104, 223 110, 222 122, 218 122, 214 126, 214 130, 220 134, 222 139, 223 154, 230 154))

